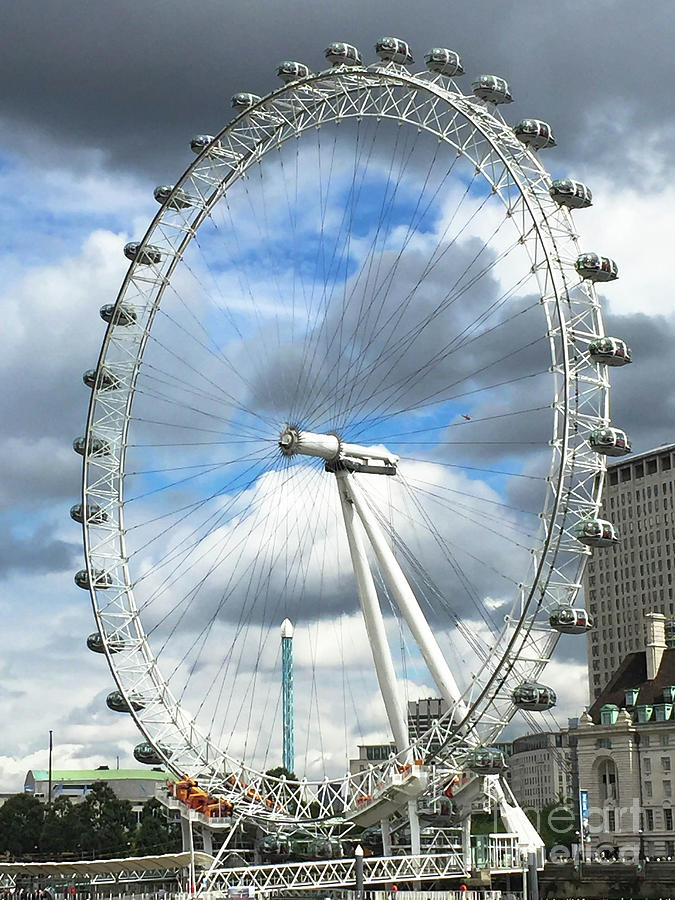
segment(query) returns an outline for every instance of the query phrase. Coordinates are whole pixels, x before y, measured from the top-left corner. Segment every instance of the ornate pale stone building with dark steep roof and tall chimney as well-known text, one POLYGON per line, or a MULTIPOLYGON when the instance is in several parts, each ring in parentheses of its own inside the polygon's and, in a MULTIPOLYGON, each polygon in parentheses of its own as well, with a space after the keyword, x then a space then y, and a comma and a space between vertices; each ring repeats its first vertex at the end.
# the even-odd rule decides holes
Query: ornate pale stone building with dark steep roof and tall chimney
POLYGON ((627 654, 579 720, 593 854, 675 856, 675 649, 666 647, 665 623, 647 614, 646 649, 627 654))

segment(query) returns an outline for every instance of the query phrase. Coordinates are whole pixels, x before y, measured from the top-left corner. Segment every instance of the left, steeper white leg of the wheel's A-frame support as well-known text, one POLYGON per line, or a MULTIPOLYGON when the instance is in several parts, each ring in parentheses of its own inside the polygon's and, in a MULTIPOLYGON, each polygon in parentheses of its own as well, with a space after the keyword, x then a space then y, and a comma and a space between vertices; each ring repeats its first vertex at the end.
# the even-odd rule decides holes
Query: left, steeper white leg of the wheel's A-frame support
POLYGON ((396 749, 399 752, 403 752, 410 743, 408 723, 403 715, 398 699, 394 662, 391 657, 389 642, 387 641, 384 618, 377 598, 377 589, 373 581, 373 573, 368 565, 361 525, 354 514, 354 506, 349 496, 346 483, 348 475, 346 472, 337 472, 336 476, 342 504, 342 514, 347 530, 347 540, 349 541, 349 552, 358 585, 363 621, 365 622, 366 633, 373 651, 377 681, 384 700, 389 725, 394 735, 396 749))

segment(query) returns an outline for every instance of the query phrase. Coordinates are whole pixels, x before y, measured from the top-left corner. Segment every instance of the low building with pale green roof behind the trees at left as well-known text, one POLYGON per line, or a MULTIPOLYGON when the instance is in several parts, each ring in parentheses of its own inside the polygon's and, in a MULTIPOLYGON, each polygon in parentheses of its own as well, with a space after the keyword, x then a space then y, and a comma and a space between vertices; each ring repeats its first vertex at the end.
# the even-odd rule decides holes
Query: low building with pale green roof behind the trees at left
MULTIPOLYGON (((52 772, 52 800, 70 797, 77 803, 84 800, 87 792, 97 781, 105 781, 120 800, 128 800, 139 812, 143 804, 155 796, 155 786, 164 784, 168 776, 161 769, 55 769, 52 772)), ((24 791, 40 800, 46 800, 49 793, 49 772, 46 769, 31 769, 24 782, 24 791)))

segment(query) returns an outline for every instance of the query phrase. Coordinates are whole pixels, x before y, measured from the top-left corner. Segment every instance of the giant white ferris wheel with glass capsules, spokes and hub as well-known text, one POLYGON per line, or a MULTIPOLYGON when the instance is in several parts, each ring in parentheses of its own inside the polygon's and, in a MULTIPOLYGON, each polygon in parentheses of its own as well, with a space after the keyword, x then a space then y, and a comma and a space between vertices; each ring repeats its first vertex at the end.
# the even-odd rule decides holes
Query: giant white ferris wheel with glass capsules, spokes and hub
POLYGON ((74 444, 108 705, 139 760, 279 821, 500 771, 505 725, 555 703, 559 635, 592 625, 605 457, 630 450, 595 291, 616 265, 577 244, 591 194, 542 166, 550 126, 507 124, 500 77, 463 93, 452 50, 415 74, 405 42, 376 51, 283 62, 192 141, 124 248, 74 444), (269 774, 287 619, 292 777, 269 774))

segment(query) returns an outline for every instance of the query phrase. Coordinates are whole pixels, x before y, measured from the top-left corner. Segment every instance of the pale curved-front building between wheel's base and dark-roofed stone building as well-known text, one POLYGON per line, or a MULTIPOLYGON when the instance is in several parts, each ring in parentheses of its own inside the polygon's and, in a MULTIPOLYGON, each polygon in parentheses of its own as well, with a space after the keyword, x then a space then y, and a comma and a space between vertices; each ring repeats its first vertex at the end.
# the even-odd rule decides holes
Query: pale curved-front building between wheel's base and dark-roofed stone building
POLYGON ((568 729, 516 738, 511 744, 509 784, 525 809, 541 810, 562 799, 576 802, 574 738, 568 729))

